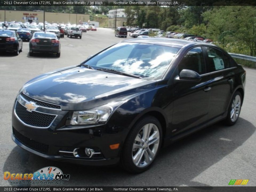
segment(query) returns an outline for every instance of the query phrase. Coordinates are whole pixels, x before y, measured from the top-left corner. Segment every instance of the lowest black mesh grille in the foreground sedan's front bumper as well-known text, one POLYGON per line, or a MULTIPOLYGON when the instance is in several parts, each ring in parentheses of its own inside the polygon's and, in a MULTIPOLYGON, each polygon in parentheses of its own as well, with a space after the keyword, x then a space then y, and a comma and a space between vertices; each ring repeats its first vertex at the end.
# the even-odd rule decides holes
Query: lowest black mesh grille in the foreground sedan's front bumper
POLYGON ((34 141, 30 138, 25 137, 24 135, 20 134, 16 129, 13 128, 13 134, 14 136, 21 142, 23 145, 30 147, 31 149, 34 149, 35 151, 38 151, 43 154, 48 153, 49 146, 45 145, 43 143, 39 143, 37 141, 34 141))

